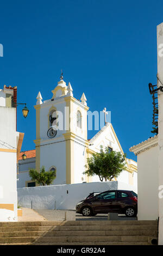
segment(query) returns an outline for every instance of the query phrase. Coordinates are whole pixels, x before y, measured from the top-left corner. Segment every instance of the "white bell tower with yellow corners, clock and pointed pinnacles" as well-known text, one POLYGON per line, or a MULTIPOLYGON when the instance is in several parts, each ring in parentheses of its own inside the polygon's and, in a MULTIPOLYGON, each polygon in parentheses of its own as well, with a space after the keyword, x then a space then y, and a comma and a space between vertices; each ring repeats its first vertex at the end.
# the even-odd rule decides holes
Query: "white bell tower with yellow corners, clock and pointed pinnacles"
POLYGON ((87 107, 83 93, 80 101, 73 97, 70 84, 66 86, 63 74, 52 98, 42 101, 37 95, 36 105, 36 169, 56 168, 57 184, 83 182, 86 164, 87 107))

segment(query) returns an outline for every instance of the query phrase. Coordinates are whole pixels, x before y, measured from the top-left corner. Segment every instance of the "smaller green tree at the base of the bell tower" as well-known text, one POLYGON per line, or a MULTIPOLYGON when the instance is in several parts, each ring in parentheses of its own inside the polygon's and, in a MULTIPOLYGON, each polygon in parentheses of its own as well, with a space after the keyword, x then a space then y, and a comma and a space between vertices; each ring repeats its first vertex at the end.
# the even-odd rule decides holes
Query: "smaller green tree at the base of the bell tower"
POLYGON ((51 185, 53 180, 56 178, 56 170, 49 170, 46 172, 45 167, 42 166, 40 172, 37 172, 36 169, 30 169, 29 176, 40 185, 51 185))

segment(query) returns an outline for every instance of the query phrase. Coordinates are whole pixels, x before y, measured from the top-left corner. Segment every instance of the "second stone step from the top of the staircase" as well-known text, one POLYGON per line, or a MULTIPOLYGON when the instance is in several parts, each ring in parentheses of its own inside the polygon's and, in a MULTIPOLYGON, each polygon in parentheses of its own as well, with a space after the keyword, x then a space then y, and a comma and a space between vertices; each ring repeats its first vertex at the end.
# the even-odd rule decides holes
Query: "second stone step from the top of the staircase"
POLYGON ((16 231, 80 231, 80 230, 157 230, 158 225, 57 225, 57 226, 26 226, 0 227, 1 232, 16 231))

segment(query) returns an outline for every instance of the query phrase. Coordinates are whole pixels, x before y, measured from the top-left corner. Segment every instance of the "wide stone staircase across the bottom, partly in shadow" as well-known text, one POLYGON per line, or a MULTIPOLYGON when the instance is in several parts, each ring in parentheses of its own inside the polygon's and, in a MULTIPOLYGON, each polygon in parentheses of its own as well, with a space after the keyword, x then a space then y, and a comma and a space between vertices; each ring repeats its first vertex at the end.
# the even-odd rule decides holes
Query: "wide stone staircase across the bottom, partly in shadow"
POLYGON ((157 221, 0 222, 0 245, 152 245, 152 239, 157 221))

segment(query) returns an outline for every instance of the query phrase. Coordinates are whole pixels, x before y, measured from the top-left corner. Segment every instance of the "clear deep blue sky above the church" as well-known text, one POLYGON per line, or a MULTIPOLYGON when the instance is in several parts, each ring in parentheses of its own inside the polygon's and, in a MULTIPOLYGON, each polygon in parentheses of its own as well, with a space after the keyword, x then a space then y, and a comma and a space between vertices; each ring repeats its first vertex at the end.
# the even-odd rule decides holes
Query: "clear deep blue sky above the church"
MULTIPOLYGON (((111 123, 127 157, 129 148, 153 136, 156 26, 162 1, 3 1, 0 11, 0 88, 17 86, 17 130, 22 150, 34 149, 37 93, 51 99, 60 70, 74 97, 84 92, 90 111, 111 111, 111 123)), ((2 121, 2 120, 1 120, 2 121)), ((97 131, 89 131, 91 138, 97 131)))

